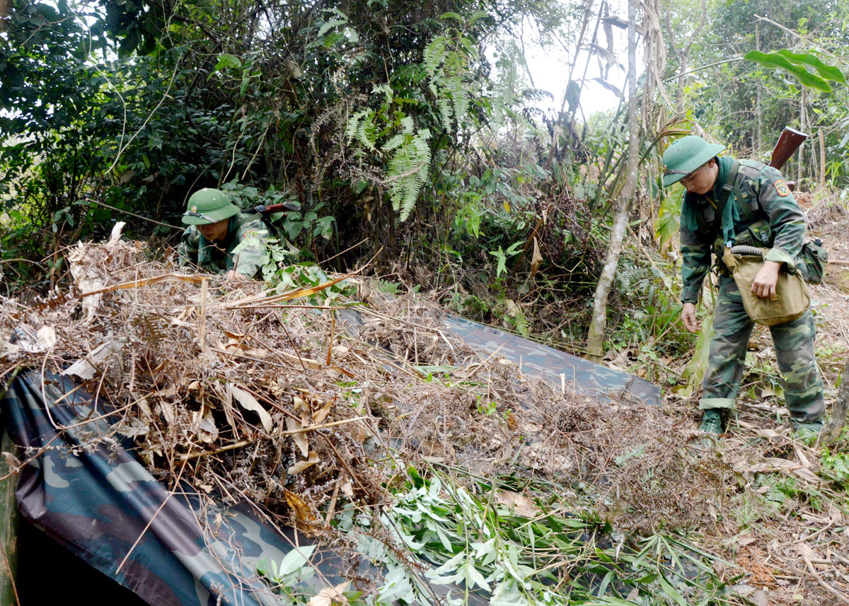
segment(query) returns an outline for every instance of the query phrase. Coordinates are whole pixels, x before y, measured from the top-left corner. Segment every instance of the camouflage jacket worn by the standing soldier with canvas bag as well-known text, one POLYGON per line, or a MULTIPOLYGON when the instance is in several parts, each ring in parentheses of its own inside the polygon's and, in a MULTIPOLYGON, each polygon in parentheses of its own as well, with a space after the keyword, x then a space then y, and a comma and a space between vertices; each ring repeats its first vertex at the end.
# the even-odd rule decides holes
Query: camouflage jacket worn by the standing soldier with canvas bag
POLYGON ((722 216, 732 218, 734 244, 750 244, 767 248, 764 258, 786 264, 796 270, 801 245, 805 239, 807 217, 796 204, 796 199, 781 173, 771 166, 753 160, 741 160, 734 189, 728 194, 722 212, 722 185, 728 175, 733 158, 718 158, 719 176, 708 194, 684 196, 681 208, 681 256, 683 263, 684 303, 698 303, 701 285, 711 269, 711 250, 717 256, 717 271, 728 275, 722 263, 722 216), (716 247, 716 248, 715 248, 716 247))

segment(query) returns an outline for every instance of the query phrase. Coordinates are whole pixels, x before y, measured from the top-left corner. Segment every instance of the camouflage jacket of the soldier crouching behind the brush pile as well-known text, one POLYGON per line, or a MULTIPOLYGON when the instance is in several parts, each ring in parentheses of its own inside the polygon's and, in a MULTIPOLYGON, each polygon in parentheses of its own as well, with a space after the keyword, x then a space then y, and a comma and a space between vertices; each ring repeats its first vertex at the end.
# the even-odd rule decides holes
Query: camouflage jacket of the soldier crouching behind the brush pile
POLYGON ((197 265, 216 273, 234 269, 253 278, 265 261, 268 236, 268 227, 256 213, 240 212, 231 217, 227 235, 221 241, 207 240, 197 227, 190 225, 177 248, 180 267, 197 265))

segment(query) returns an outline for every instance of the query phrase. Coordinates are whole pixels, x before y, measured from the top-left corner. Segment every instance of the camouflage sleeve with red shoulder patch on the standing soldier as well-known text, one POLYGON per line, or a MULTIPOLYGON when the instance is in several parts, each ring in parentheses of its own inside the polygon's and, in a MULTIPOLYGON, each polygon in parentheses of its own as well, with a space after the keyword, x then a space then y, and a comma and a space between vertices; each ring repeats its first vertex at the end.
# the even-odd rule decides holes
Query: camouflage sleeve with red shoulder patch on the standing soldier
POLYGON ((786 263, 787 268, 794 271, 805 240, 805 212, 796 204, 781 173, 772 166, 761 171, 758 186, 757 201, 769 217, 769 227, 773 230, 773 249, 764 259, 786 263))

